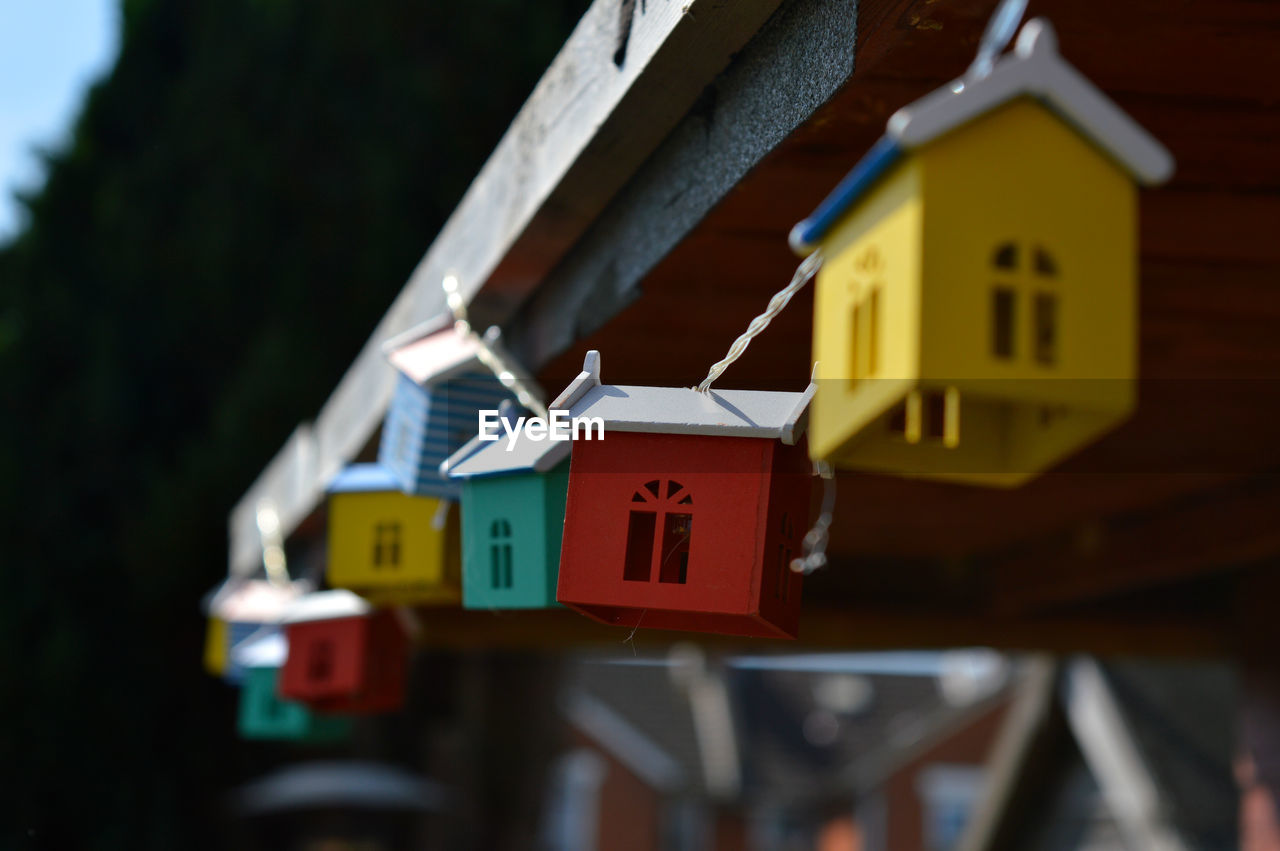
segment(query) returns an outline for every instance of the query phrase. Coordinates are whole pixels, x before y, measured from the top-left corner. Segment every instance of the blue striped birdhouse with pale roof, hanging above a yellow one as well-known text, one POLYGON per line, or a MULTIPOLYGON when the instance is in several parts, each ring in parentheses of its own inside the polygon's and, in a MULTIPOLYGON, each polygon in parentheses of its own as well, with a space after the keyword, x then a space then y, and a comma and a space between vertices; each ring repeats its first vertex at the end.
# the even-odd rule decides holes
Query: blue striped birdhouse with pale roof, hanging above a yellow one
POLYGON ((498 338, 495 328, 481 339, 442 317, 384 347, 399 376, 378 463, 392 471, 404 493, 458 498, 461 488, 440 473, 440 462, 475 435, 481 410, 497 410, 511 398, 485 362, 490 351, 500 351, 498 338))

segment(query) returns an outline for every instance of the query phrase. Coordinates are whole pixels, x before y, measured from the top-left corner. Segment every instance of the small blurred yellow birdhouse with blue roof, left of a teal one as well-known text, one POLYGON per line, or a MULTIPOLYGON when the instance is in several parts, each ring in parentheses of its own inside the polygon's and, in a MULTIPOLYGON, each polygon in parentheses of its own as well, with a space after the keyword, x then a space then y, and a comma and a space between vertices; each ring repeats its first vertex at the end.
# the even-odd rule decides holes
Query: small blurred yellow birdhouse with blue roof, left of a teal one
POLYGON ((454 503, 410 497, 379 465, 329 485, 329 584, 384 605, 462 600, 454 503))

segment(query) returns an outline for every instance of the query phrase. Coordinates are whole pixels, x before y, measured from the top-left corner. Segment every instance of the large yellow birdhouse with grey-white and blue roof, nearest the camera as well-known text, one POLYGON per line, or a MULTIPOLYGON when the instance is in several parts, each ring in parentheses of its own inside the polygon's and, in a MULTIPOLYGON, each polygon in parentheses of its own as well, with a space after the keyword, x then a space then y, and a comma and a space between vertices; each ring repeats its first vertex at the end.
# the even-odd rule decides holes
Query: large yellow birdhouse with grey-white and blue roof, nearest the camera
POLYGON ((810 454, 1011 486, 1121 422, 1135 401, 1135 182, 1171 173, 1041 19, 1010 54, 899 110, 791 233, 823 257, 810 454))

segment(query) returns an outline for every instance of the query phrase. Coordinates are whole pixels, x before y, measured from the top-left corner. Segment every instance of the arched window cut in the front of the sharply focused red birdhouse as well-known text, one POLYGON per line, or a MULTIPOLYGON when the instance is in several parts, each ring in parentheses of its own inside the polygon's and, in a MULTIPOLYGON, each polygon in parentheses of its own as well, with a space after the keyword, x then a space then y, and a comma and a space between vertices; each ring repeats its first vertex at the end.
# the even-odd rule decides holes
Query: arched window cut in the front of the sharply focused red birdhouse
POLYGON ((694 536, 694 497, 671 479, 645 482, 631 497, 626 562, 622 578, 631 582, 684 585, 694 536))

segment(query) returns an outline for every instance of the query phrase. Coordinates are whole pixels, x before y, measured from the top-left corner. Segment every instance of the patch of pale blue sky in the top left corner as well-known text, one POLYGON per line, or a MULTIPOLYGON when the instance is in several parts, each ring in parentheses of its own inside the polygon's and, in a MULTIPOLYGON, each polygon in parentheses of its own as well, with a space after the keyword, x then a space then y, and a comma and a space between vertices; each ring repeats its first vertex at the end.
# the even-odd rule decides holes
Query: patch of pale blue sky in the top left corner
POLYGON ((119 0, 0 0, 0 241, 19 225, 14 189, 44 180, 33 150, 67 139, 119 35, 119 0))

